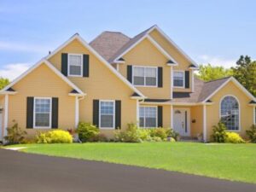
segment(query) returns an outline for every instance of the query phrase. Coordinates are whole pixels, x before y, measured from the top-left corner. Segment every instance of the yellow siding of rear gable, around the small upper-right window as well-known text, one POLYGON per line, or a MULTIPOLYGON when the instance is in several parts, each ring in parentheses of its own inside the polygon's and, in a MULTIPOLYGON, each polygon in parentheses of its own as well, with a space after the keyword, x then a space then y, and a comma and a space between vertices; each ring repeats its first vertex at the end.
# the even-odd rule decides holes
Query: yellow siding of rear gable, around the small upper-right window
MULTIPOLYGON (((183 70, 183 71, 188 71, 189 70, 189 65, 191 64, 190 61, 188 61, 186 59, 186 57, 184 57, 179 50, 177 50, 177 48, 175 48, 175 46, 173 46, 172 44, 170 44, 166 38, 164 38, 160 32, 158 32, 157 30, 153 30, 152 32, 149 33, 150 37, 154 38, 154 40, 160 44, 160 46, 166 50, 166 52, 172 56, 172 58, 178 62, 178 66, 177 67, 173 67, 173 70, 183 70)), ((191 81, 192 81, 192 74, 190 71, 189 74, 189 82, 190 82, 190 89, 177 89, 174 88, 173 91, 180 91, 180 92, 189 92, 191 91, 191 81)))

